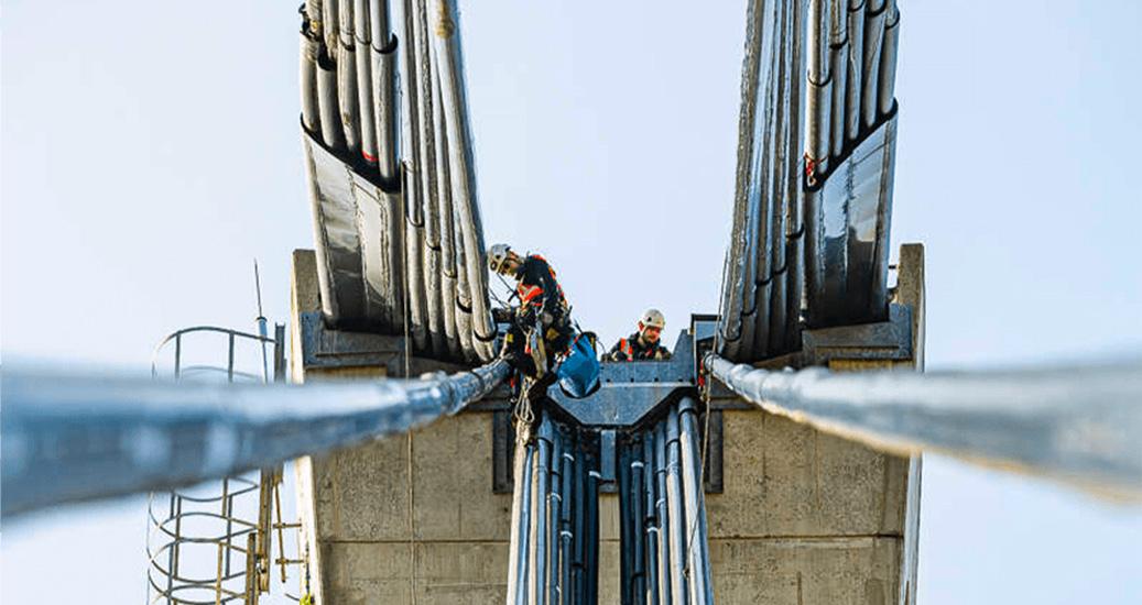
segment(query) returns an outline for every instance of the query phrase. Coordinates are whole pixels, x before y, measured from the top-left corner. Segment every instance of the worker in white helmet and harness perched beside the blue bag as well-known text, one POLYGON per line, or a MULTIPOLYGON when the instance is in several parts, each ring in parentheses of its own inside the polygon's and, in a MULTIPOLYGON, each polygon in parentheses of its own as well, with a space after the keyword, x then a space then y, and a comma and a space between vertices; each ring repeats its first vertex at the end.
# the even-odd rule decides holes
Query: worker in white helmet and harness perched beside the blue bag
MULTIPOLYGON (((504 340, 504 353, 518 371, 541 378, 566 355, 574 330, 571 307, 555 280, 555 271, 539 255, 521 257, 512 248, 498 243, 488 250, 492 272, 516 281, 516 308, 512 328, 504 340)), ((593 356, 594 357, 594 356, 593 356)))

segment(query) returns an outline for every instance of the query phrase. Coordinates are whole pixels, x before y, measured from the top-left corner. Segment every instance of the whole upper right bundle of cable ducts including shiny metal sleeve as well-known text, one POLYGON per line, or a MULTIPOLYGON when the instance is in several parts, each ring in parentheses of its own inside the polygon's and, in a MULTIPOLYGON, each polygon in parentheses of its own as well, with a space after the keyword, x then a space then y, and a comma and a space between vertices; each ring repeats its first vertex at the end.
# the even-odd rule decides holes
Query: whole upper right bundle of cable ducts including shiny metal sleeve
POLYGON ((880 321, 900 14, 888 0, 754 0, 719 350, 757 361, 799 330, 880 321))

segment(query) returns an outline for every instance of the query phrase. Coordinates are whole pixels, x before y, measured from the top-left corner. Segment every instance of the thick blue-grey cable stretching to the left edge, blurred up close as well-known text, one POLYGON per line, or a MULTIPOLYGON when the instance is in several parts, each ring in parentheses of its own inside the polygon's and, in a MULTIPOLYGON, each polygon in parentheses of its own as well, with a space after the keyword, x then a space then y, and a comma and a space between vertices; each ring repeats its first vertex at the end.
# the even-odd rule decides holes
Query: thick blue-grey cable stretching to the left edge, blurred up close
POLYGON ((2 514, 188 485, 404 433, 459 412, 507 373, 496 360, 420 379, 190 385, 2 366, 2 514))

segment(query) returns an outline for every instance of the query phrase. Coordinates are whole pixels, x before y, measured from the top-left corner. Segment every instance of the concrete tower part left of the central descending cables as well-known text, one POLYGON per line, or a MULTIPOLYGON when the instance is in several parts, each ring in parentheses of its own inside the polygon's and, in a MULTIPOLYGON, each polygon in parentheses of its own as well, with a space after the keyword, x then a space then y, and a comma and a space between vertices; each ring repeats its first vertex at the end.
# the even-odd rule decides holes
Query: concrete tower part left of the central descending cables
MULTIPOLYGON (((292 263, 292 381, 457 368, 407 358, 399 336, 325 329, 314 252, 295 251, 292 263)), ((316 603, 502 600, 512 495, 492 490, 492 420, 507 408, 497 393, 408 434, 297 461, 307 590, 316 603)))

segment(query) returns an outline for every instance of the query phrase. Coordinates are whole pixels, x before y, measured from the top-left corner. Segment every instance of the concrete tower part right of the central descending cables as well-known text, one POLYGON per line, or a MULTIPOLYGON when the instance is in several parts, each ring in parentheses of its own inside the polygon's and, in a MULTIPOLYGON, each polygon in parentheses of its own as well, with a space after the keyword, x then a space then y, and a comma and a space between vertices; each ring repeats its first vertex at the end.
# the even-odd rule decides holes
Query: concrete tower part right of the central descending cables
MULTIPOLYGON (((838 346, 829 369, 923 370, 923 245, 901 247, 896 275, 891 302, 909 307, 910 353, 870 358, 838 346)), ((877 452, 732 394, 714 408, 723 409, 725 469, 723 492, 706 498, 716 602, 916 603, 919 457, 877 452)))

